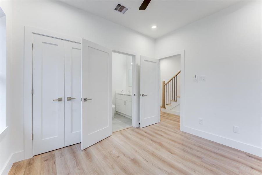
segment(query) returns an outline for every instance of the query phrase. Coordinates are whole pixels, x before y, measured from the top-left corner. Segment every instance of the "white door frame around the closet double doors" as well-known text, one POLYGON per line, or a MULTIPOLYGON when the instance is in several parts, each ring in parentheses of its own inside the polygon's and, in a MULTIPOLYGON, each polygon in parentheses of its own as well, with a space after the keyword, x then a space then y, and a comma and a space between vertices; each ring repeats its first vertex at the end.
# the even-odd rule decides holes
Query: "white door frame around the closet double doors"
POLYGON ((78 37, 67 36, 36 27, 24 27, 24 159, 33 157, 33 34, 39 34, 81 44, 81 38, 78 37))

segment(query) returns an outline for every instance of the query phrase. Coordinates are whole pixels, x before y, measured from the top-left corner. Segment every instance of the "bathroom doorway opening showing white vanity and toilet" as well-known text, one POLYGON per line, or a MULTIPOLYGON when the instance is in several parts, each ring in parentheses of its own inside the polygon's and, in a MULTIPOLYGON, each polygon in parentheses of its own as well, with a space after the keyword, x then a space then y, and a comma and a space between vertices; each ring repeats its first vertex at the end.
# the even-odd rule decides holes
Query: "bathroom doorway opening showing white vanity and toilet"
POLYGON ((112 54, 112 132, 132 127, 133 56, 112 54))

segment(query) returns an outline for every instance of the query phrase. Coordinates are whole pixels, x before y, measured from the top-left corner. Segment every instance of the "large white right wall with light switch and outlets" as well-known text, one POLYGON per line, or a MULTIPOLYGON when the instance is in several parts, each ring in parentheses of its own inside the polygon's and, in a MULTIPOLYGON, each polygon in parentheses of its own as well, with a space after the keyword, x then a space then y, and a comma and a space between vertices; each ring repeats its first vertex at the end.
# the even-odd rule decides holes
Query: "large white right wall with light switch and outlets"
POLYGON ((259 156, 261 2, 242 1, 156 39, 157 56, 185 50, 181 129, 259 156), (195 74, 206 75, 206 81, 195 82, 195 74), (240 127, 239 134, 233 132, 234 125, 240 127))

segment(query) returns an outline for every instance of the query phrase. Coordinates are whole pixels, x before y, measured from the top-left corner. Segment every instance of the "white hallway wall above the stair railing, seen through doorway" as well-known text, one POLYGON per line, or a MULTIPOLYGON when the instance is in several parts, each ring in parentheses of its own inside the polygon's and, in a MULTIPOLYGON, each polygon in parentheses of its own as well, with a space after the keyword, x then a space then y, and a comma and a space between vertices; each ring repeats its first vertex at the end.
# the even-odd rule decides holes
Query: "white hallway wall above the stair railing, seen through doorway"
POLYGON ((168 57, 160 60, 160 104, 162 106, 162 82, 170 80, 180 71, 180 55, 168 57))

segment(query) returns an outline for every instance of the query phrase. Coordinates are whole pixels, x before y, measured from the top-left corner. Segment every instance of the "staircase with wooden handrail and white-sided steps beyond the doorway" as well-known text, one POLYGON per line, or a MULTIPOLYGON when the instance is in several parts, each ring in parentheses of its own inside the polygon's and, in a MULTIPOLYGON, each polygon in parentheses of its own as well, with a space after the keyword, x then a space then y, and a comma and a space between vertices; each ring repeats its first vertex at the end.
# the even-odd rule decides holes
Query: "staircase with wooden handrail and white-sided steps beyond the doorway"
POLYGON ((162 82, 162 112, 180 115, 180 72, 162 82))

